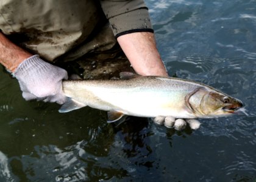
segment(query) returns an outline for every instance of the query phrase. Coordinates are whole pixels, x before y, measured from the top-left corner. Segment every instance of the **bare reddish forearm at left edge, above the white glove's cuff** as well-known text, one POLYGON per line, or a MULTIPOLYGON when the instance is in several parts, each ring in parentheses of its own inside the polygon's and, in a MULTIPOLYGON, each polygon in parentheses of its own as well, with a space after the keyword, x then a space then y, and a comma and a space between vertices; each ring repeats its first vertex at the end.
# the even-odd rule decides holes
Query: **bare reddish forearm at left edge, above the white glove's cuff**
POLYGON ((20 63, 30 56, 32 54, 13 44, 0 32, 0 63, 6 69, 13 73, 20 63))

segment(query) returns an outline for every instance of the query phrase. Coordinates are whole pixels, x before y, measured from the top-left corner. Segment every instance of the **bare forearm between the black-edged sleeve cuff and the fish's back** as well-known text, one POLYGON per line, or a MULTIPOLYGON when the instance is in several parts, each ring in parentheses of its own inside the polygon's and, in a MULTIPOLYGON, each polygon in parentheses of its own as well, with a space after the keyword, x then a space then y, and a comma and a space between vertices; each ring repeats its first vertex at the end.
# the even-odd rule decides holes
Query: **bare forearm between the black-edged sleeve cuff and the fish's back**
POLYGON ((119 36, 117 40, 135 72, 144 76, 168 76, 155 44, 154 33, 129 33, 119 36))

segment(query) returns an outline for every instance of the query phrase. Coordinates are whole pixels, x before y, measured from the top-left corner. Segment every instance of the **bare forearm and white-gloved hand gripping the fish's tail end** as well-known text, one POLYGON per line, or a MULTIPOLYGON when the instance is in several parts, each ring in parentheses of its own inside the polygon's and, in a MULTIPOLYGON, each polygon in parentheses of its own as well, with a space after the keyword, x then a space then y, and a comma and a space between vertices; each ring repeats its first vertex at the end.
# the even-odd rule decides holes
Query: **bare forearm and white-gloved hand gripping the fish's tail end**
POLYGON ((43 61, 9 41, 0 32, 0 63, 18 79, 23 98, 62 104, 66 97, 62 79, 68 75, 60 67, 43 61))

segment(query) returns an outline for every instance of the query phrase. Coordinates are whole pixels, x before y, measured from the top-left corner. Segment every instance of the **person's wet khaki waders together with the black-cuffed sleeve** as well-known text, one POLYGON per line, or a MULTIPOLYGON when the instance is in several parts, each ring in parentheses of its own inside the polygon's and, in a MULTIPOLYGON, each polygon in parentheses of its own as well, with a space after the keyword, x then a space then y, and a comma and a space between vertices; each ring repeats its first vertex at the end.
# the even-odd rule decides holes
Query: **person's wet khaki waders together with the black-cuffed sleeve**
POLYGON ((48 61, 71 61, 112 49, 115 36, 129 31, 152 31, 148 9, 141 0, 1 1, 0 29, 48 61))

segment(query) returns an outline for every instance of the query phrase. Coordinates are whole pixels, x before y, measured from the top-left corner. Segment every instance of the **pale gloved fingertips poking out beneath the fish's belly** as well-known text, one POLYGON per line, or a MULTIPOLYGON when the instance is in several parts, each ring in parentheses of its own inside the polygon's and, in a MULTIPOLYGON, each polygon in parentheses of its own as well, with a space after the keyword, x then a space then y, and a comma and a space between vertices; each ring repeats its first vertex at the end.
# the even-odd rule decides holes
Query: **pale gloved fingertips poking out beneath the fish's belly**
POLYGON ((172 116, 167 116, 167 117, 163 117, 163 116, 157 116, 154 118, 154 123, 156 124, 160 124, 160 125, 165 125, 168 128, 174 128, 176 130, 183 130, 185 129, 185 127, 187 126, 187 124, 190 126, 191 129, 193 130, 197 130, 199 129, 201 123, 199 123, 199 121, 194 120, 194 119, 175 119, 172 116))

